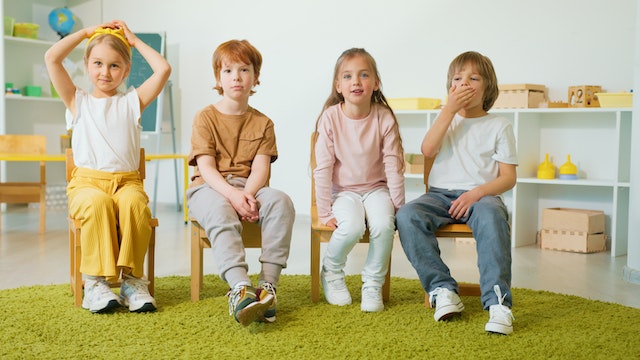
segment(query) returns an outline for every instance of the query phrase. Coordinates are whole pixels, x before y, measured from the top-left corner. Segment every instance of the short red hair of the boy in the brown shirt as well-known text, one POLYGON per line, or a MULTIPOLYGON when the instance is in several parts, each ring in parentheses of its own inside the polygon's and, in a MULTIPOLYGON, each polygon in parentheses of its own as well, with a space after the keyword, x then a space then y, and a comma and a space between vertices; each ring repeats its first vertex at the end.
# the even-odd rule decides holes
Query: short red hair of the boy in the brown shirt
MULTIPOLYGON (((262 54, 247 40, 229 40, 220 44, 213 52, 213 74, 216 77, 216 86, 214 86, 214 89, 218 91, 219 95, 224 94, 224 90, 219 85, 220 70, 222 69, 223 61, 240 62, 253 66, 256 85, 260 85, 259 78, 260 68, 262 67, 262 54)), ((251 90, 249 95, 255 93, 255 91, 251 90)))

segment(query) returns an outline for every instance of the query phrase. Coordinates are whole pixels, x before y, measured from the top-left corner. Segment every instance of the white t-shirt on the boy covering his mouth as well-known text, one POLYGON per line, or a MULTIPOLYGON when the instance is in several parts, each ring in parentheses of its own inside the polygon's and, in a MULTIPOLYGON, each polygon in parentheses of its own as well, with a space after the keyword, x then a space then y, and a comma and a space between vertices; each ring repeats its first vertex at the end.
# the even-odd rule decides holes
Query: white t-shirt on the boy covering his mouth
POLYGON ((498 162, 518 165, 511 122, 494 114, 456 115, 429 173, 429 186, 471 190, 498 177, 498 162))

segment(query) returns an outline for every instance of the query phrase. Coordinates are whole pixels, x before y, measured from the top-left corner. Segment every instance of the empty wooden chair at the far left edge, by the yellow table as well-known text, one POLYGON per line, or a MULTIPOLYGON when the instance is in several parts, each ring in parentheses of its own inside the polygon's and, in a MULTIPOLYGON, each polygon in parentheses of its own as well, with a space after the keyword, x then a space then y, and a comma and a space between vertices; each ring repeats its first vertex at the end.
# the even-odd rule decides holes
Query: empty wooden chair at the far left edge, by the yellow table
MULTIPOLYGON (((44 155, 46 152, 47 137, 44 135, 0 135, 0 153, 44 155)), ((39 182, 0 183, 0 203, 40 203, 40 234, 44 233, 47 222, 46 193, 47 181, 44 161, 40 161, 39 182)))

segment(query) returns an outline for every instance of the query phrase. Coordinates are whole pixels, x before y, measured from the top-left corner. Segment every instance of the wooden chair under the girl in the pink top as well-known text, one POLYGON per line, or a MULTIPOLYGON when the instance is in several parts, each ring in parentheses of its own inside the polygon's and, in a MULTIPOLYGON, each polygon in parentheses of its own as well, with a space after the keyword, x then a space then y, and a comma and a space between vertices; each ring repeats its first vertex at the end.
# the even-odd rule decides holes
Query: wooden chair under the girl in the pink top
MULTIPOLYGON (((320 243, 329 242, 333 229, 322 224, 318 220, 318 207, 316 204, 316 187, 313 170, 316 167, 315 145, 317 133, 311 135, 311 301, 320 299, 320 243)), ((365 230, 360 243, 369 243, 369 229, 365 230)), ((382 299, 389 301, 391 288, 391 259, 389 259, 389 271, 382 285, 382 299)))

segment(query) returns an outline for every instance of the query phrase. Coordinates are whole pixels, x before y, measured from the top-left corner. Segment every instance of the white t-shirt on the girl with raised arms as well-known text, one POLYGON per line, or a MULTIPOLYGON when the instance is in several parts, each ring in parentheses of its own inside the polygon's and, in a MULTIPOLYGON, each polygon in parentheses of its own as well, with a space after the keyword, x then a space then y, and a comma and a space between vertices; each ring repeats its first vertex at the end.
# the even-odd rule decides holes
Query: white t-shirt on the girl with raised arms
POLYGON ((140 162, 140 100, 136 89, 110 98, 96 98, 76 90, 77 115, 66 111, 72 129, 71 147, 76 166, 106 172, 138 169, 140 162))

